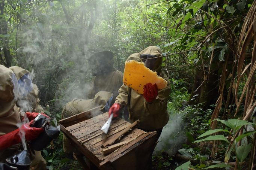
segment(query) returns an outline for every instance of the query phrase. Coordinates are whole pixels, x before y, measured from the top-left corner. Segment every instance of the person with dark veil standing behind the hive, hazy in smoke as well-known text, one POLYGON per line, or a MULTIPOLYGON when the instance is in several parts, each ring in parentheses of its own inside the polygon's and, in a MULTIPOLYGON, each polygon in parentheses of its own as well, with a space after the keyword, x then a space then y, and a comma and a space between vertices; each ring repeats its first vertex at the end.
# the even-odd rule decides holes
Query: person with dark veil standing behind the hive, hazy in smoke
POLYGON ((93 98, 99 91, 113 93, 114 98, 118 95, 118 89, 123 84, 123 74, 113 67, 113 52, 102 51, 91 55, 88 64, 94 76, 88 98, 93 98))

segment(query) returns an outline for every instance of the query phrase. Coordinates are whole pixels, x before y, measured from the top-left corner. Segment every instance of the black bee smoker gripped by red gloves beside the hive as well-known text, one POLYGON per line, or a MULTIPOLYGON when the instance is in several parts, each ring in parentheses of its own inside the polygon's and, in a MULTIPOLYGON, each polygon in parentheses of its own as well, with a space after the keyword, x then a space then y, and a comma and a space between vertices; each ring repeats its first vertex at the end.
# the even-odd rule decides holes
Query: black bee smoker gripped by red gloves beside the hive
POLYGON ((59 129, 50 125, 47 118, 40 113, 36 116, 31 126, 44 128, 44 132, 30 142, 30 146, 36 151, 46 148, 51 140, 56 139, 60 134, 59 129))

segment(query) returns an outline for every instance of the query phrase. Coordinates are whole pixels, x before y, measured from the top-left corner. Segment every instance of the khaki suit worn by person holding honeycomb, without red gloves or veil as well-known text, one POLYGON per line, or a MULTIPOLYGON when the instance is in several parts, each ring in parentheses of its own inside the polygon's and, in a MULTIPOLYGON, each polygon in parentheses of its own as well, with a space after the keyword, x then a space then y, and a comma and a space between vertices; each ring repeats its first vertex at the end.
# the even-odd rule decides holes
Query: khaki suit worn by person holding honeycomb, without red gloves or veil
MULTIPOLYGON (((162 56, 162 52, 156 46, 149 46, 140 53, 130 55, 126 61, 136 60, 142 62, 139 58, 140 54, 151 54, 156 56, 162 56)), ((126 85, 122 85, 119 89, 119 95, 116 97, 115 103, 119 103, 121 106, 128 106, 129 118, 131 122, 140 119, 138 128, 143 130, 157 130, 163 128, 168 120, 169 114, 167 113, 167 99, 170 94, 170 82, 167 75, 161 70, 162 58, 158 58, 155 61, 158 76, 164 78, 168 84, 167 87, 158 91, 157 98, 148 103, 143 95, 138 94, 135 90, 126 85)))

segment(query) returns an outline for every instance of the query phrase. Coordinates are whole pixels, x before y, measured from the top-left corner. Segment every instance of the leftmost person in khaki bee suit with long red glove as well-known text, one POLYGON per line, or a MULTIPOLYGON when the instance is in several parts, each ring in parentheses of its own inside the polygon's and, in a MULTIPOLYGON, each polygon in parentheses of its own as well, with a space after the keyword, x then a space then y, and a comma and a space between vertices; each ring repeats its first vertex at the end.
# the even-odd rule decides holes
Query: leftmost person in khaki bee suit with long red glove
MULTIPOLYGON (((27 91, 30 92, 32 86, 27 86, 27 91)), ((20 131, 25 132, 27 141, 33 140, 41 134, 44 129, 30 127, 35 115, 28 116, 28 123, 21 125, 23 116, 18 112, 16 106, 17 96, 19 95, 18 80, 12 70, 0 65, 0 162, 5 162, 5 159, 11 157, 17 152, 23 150, 21 144, 20 131), (17 125, 20 124, 20 128, 17 125)), ((30 151, 30 159, 32 160, 31 167, 37 170, 45 170, 46 162, 41 154, 33 154, 30 151)))

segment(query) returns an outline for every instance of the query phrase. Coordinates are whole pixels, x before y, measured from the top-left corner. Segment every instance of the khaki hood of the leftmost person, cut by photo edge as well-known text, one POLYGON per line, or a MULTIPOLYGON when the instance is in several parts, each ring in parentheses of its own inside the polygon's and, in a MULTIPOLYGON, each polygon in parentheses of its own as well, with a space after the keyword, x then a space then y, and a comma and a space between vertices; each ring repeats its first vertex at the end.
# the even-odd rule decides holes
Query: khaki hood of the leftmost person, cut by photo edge
POLYGON ((17 78, 12 70, 0 65, 0 116, 12 111, 17 101, 17 78))

